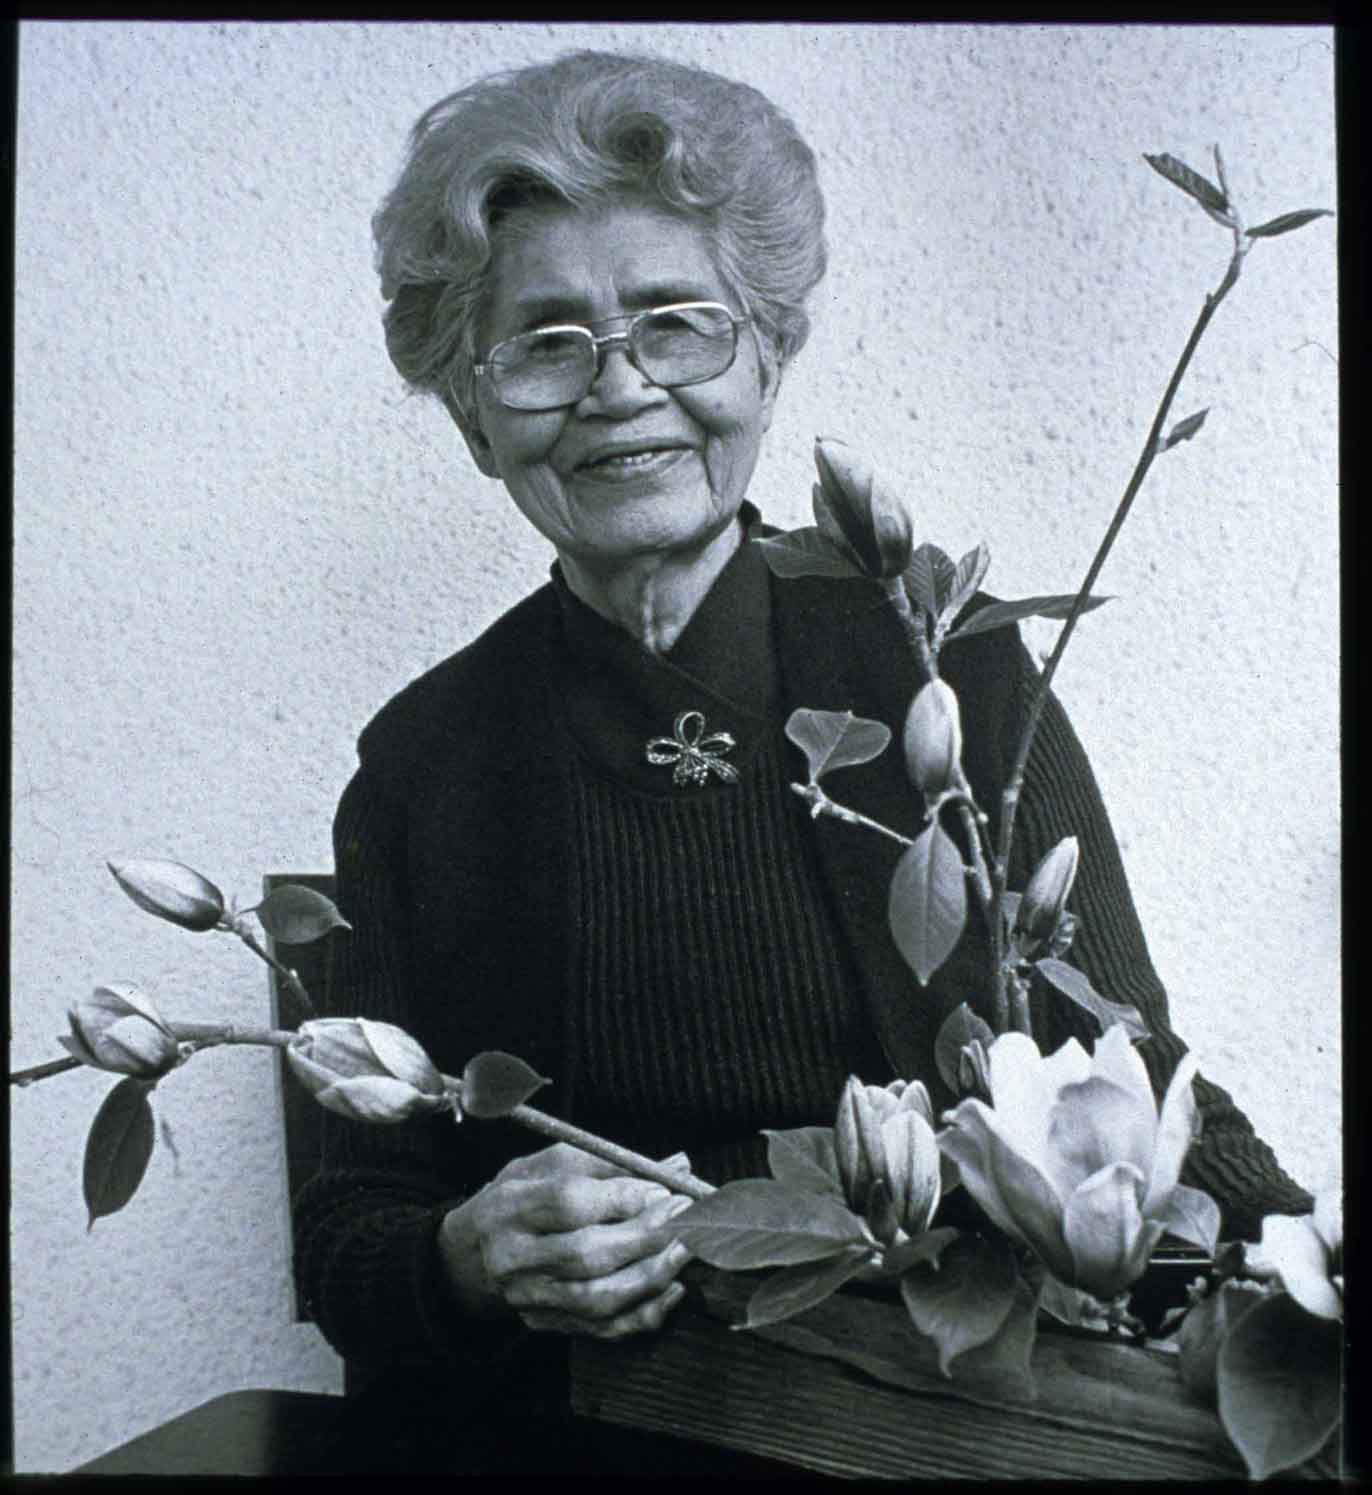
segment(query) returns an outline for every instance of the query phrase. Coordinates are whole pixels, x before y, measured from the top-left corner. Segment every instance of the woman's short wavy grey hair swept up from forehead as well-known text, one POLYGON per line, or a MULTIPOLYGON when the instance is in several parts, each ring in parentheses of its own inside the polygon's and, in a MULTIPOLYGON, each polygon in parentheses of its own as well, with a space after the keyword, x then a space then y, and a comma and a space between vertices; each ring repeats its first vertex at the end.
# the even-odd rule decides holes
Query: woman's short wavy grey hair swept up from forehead
POLYGON ((655 57, 569 52, 441 99, 372 218, 386 347, 415 390, 475 414, 477 323, 501 221, 622 200, 698 224, 782 365, 825 271, 815 154, 747 84, 655 57))

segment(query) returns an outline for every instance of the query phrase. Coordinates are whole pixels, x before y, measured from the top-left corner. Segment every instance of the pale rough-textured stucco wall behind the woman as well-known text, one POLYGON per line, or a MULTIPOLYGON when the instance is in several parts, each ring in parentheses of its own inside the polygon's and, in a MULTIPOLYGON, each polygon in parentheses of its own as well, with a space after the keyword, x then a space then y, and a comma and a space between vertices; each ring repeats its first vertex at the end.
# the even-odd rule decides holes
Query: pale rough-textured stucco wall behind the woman
MULTIPOLYGON (((755 496, 806 519, 847 437, 1001 595, 1075 586, 1224 233, 1140 160, 1223 142, 1249 221, 1333 206, 1330 34, 1287 28, 27 24, 19 52, 13 1046, 132 978, 251 1020, 263 967, 139 915, 103 860, 241 897, 329 866, 368 715, 549 556, 386 362, 368 215, 441 93, 572 45, 791 111, 832 269, 755 496)), ((1176 1021, 1288 1168, 1338 1171, 1336 224, 1260 245, 1060 689, 1176 1021)), ((1036 637, 1036 643, 1046 635, 1036 637)), ((175 1075, 142 1195, 90 1235, 108 1082, 12 1102, 21 1470, 241 1386, 336 1387, 290 1323, 274 1078, 175 1075)))

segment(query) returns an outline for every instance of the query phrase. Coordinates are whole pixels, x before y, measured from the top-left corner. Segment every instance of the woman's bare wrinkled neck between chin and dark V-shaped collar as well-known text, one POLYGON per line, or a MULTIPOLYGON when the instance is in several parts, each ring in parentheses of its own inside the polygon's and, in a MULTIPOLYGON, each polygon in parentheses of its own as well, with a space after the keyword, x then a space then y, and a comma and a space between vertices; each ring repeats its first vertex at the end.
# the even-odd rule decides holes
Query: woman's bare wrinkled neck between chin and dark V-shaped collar
POLYGON ((571 555, 559 559, 568 588, 589 608, 652 653, 665 653, 741 543, 735 519, 698 550, 653 553, 605 570, 571 555))

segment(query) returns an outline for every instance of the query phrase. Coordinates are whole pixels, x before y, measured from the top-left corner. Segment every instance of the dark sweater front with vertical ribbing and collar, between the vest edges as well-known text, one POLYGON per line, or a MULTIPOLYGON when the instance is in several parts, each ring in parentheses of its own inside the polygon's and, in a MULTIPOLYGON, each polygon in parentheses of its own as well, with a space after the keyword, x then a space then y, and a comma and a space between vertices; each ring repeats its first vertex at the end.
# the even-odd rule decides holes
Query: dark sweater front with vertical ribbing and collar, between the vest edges
POLYGON ((741 555, 665 655, 559 580, 572 1103, 649 1154, 689 1138, 711 1181, 765 1172, 761 1130, 826 1118, 847 1075, 894 1078, 788 788, 756 565, 741 555), (647 761, 683 707, 701 736, 728 733, 717 756, 737 777, 683 786, 647 761))

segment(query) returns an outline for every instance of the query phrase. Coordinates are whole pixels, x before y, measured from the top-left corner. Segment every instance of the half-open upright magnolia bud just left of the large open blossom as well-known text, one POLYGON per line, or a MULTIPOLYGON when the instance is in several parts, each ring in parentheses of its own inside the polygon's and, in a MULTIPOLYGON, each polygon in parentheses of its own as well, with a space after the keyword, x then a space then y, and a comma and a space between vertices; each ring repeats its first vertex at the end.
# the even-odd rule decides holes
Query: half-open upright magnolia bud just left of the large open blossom
POLYGON ((843 1193, 858 1214, 871 1211, 888 1244, 898 1232, 922 1235, 939 1208, 940 1157, 928 1091, 916 1079, 864 1085, 850 1076, 838 1100, 834 1151, 843 1193))

